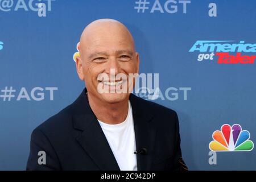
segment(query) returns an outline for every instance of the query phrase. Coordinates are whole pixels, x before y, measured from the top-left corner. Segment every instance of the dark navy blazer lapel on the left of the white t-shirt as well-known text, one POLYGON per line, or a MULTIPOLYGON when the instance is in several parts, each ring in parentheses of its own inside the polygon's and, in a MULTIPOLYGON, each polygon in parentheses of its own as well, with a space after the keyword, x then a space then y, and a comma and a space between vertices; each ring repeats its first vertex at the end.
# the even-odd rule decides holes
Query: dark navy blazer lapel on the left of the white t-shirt
MULTIPOLYGON (((86 89, 74 102, 73 125, 82 133, 76 138, 85 152, 101 170, 120 170, 96 116, 90 109, 86 89)), ((86 164, 85 164, 86 165, 86 164)))

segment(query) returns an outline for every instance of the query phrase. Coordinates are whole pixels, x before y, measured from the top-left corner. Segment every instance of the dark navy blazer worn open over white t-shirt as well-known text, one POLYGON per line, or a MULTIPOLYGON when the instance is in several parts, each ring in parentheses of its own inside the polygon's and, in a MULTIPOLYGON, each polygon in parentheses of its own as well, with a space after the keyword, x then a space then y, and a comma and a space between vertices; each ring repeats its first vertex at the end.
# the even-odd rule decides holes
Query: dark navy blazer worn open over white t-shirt
MULTIPOLYGON (((186 169, 176 112, 133 94, 130 102, 137 150, 147 150, 137 154, 138 170, 186 169)), ((120 170, 90 109, 86 89, 32 132, 27 170, 120 170), (46 164, 38 164, 39 151, 46 152, 46 164)))

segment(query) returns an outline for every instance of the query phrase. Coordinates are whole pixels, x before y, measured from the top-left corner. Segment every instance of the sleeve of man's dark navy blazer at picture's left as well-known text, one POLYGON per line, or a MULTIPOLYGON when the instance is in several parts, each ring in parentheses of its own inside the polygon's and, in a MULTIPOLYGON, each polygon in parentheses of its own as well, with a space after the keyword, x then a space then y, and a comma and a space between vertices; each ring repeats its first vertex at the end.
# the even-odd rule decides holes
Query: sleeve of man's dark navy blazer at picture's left
POLYGON ((27 170, 61 170, 59 159, 52 147, 51 142, 43 131, 35 129, 31 134, 30 141, 30 155, 28 156, 27 170), (41 151, 41 152, 40 152, 41 151), (42 164, 42 157, 45 154, 44 160, 46 163, 42 164), (41 158, 40 158, 41 157, 41 158))

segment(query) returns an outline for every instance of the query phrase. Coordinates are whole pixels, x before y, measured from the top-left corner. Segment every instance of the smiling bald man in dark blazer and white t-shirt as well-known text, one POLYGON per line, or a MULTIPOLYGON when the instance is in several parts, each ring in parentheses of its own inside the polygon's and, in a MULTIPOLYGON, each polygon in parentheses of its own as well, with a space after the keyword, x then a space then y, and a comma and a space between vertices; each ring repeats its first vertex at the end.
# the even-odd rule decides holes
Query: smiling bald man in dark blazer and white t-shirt
POLYGON ((32 132, 27 169, 187 170, 176 112, 131 94, 139 54, 129 30, 96 20, 78 49, 76 70, 86 88, 32 132))

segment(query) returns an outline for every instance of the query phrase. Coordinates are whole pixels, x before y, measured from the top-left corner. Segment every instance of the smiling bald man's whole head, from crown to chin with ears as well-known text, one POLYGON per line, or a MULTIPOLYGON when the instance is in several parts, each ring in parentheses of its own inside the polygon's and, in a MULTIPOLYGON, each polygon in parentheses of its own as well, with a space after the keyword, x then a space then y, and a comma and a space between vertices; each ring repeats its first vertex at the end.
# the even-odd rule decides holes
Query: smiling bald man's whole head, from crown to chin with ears
POLYGON ((88 95, 108 103, 128 100, 134 86, 129 74, 139 70, 139 55, 129 30, 117 20, 96 20, 82 32, 78 49, 77 73, 85 81, 88 95), (125 93, 118 92, 123 89, 125 93))

